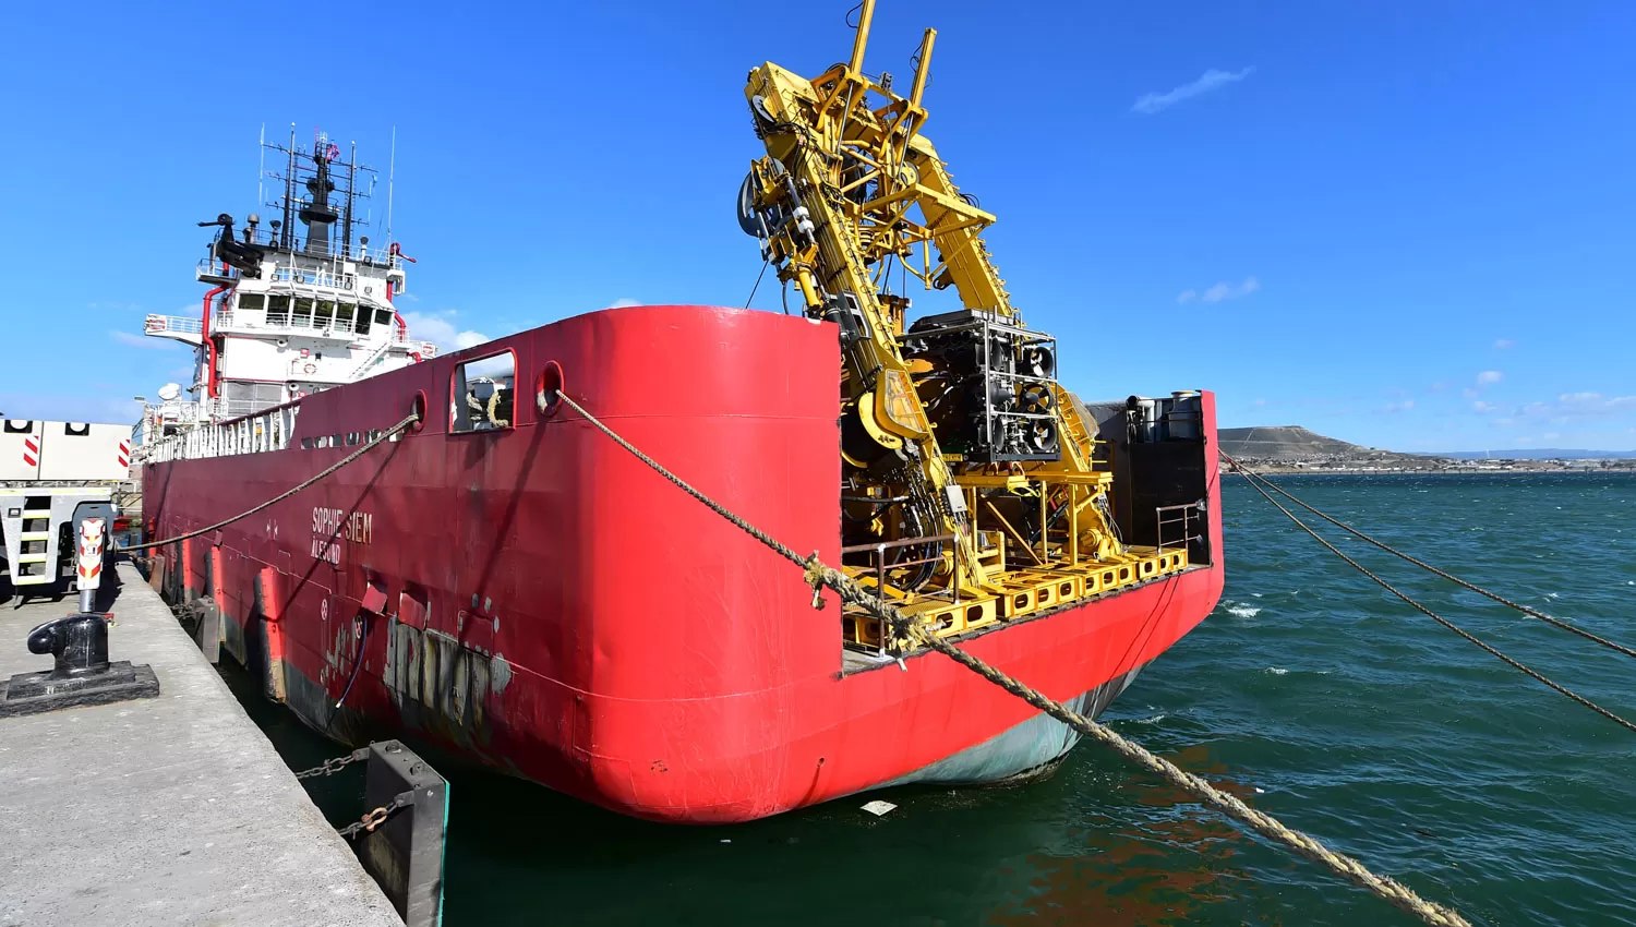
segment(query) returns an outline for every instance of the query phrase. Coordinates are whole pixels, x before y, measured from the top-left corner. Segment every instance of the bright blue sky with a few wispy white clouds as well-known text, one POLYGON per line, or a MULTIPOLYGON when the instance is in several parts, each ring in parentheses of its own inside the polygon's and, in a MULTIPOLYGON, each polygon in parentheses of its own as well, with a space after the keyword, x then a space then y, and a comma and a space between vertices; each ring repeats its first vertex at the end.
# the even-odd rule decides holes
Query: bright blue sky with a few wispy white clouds
MULTIPOLYGON (((142 316, 198 312, 193 222, 255 209, 263 124, 383 173, 396 126, 422 337, 743 304, 744 74, 844 59, 849 5, 10 10, 0 412, 131 420, 185 376, 142 316)), ((1636 5, 882 0, 865 67, 906 78, 928 25, 926 134, 1081 394, 1636 448, 1636 5)))

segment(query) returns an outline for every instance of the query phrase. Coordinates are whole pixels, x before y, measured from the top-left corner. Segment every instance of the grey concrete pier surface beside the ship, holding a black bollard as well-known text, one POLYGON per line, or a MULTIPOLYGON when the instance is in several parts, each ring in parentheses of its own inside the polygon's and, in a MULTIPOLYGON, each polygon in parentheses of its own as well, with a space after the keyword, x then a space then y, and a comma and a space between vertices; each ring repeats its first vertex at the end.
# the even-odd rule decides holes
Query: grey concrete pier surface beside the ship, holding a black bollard
MULTIPOLYGON (((151 664, 160 695, 0 718, 0 927, 401 927, 136 567, 113 579, 111 657, 151 664)), ((13 607, 0 678, 51 669, 25 636, 74 602, 13 607)))

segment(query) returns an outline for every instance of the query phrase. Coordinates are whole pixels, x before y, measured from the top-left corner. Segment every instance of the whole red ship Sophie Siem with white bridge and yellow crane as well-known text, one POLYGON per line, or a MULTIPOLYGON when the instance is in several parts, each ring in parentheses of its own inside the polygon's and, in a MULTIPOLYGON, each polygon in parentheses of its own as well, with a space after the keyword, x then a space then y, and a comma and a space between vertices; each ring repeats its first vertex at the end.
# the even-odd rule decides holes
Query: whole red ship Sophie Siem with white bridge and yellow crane
POLYGON ((1214 394, 1081 402, 1057 379, 982 239, 995 216, 921 134, 936 33, 898 95, 862 67, 872 13, 815 78, 749 72, 764 150, 738 222, 782 314, 627 306, 406 350, 383 324, 401 249, 358 258, 334 149, 291 142, 281 226, 221 222, 200 271, 198 407, 155 410, 142 448, 167 595, 209 603, 224 651, 327 737, 641 819, 1049 773, 1072 729, 815 592, 587 419, 1090 716, 1216 607, 1214 394), (908 276, 954 307, 911 316, 908 276), (342 304, 353 338, 317 366, 342 304))

